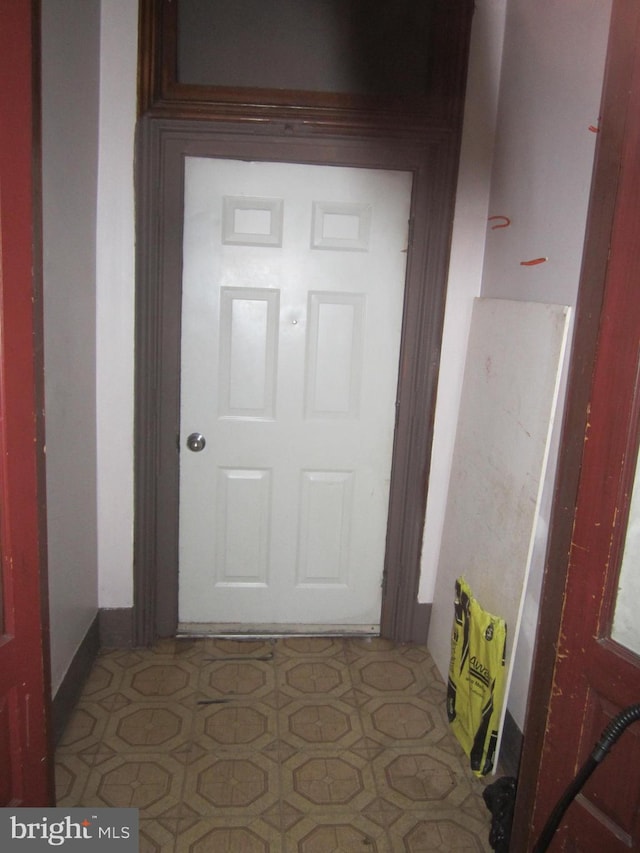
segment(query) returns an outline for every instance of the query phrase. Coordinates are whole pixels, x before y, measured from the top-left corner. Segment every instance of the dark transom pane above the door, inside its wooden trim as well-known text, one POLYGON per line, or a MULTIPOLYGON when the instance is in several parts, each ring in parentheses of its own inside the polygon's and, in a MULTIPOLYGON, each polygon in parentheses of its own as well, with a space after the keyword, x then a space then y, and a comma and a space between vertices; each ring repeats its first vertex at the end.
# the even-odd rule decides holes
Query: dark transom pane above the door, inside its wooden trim
POLYGON ((178 0, 176 79, 188 86, 425 98, 427 0, 178 0))

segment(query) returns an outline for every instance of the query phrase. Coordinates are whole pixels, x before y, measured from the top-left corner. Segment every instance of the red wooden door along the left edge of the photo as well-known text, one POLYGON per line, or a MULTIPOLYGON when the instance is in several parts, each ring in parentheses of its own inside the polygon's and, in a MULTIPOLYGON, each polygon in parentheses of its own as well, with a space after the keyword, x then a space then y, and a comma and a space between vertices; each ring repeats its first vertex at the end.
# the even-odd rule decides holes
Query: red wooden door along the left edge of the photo
POLYGON ((44 490, 39 21, 0 0, 0 806, 54 803, 44 490))

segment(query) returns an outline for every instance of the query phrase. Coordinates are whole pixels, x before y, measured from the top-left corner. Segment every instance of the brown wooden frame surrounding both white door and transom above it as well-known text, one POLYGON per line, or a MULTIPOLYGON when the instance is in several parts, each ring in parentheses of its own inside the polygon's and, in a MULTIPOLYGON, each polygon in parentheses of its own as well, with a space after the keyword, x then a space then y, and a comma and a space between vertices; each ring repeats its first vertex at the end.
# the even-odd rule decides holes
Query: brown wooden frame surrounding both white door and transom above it
MULTIPOLYGON (((416 3, 424 0, 416 0, 416 3)), ((177 626, 182 161, 190 154, 413 173, 382 633, 425 642, 420 556, 473 0, 430 0, 425 97, 177 80, 176 4, 139 0, 134 634, 177 626)))

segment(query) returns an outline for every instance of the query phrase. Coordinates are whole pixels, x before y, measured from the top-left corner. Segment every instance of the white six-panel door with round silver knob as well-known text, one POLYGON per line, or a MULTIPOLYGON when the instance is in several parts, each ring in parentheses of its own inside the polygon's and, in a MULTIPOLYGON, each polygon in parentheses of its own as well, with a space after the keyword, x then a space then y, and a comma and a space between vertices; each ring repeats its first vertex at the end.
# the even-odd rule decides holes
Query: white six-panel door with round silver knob
POLYGON ((181 630, 377 630, 410 197, 186 159, 181 630))

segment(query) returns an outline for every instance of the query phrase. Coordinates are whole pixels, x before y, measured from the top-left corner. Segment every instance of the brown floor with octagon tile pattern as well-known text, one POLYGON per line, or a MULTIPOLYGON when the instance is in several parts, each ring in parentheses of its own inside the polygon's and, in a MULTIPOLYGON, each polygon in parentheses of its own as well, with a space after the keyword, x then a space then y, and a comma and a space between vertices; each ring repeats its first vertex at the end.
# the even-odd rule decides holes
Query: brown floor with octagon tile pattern
POLYGON ((140 809, 141 853, 489 851, 426 648, 176 639, 105 651, 56 753, 58 804, 140 809))

